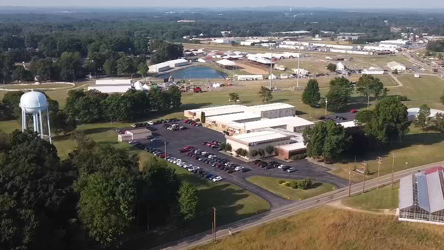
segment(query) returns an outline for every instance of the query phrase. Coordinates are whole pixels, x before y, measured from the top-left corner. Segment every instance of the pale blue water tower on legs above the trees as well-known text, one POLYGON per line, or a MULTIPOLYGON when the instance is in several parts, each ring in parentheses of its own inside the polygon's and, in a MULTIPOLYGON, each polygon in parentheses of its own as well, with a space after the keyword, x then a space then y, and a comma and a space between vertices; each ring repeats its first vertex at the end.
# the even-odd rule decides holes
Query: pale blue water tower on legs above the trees
POLYGON ((22 132, 33 127, 40 138, 49 138, 51 141, 51 131, 49 129, 48 100, 44 93, 30 91, 20 97, 20 108, 22 108, 22 132))

